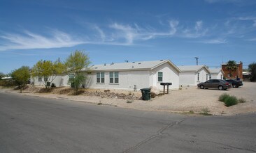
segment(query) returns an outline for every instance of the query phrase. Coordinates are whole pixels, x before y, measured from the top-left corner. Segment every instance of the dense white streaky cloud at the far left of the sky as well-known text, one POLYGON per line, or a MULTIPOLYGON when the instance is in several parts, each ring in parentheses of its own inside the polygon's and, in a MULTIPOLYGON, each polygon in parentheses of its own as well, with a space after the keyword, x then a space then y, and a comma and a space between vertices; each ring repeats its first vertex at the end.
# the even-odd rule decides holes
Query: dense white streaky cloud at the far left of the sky
POLYGON ((85 42, 81 40, 73 40, 71 35, 62 31, 51 31, 50 37, 24 31, 21 34, 17 33, 3 33, 0 36, 6 42, 0 45, 0 51, 9 49, 49 49, 60 47, 73 47, 85 42))

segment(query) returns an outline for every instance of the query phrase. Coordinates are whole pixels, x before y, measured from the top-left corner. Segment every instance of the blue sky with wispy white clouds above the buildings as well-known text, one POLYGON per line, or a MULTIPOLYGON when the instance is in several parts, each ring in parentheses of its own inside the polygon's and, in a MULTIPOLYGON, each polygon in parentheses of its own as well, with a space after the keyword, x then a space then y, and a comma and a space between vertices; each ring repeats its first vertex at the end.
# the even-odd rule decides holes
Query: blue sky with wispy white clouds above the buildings
POLYGON ((246 68, 256 61, 255 0, 0 0, 0 72, 61 61, 84 50, 92 64, 170 59, 246 68))

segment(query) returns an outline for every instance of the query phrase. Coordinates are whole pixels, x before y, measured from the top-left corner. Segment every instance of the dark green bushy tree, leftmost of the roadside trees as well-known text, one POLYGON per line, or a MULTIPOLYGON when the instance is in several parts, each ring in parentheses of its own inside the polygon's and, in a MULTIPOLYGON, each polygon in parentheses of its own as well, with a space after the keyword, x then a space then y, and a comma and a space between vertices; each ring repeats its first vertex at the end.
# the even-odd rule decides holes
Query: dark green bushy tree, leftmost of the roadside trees
POLYGON ((24 86, 26 86, 27 81, 30 78, 29 67, 22 66, 19 69, 11 72, 10 76, 17 83, 17 85, 20 88, 20 93, 22 93, 22 88, 24 88, 24 86))

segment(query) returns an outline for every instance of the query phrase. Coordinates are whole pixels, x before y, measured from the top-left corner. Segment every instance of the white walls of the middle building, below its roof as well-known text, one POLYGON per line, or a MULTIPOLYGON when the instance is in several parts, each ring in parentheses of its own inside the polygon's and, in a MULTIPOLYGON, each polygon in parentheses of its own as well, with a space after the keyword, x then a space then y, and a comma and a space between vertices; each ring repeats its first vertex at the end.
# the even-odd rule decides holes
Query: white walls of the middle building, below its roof
POLYGON ((210 75, 208 74, 208 78, 207 78, 206 74, 208 74, 208 72, 206 71, 205 68, 202 68, 197 72, 181 72, 180 85, 181 86, 197 86, 198 83, 205 82, 208 79, 210 79, 210 75), (197 77, 198 73, 199 73, 199 80, 197 77))

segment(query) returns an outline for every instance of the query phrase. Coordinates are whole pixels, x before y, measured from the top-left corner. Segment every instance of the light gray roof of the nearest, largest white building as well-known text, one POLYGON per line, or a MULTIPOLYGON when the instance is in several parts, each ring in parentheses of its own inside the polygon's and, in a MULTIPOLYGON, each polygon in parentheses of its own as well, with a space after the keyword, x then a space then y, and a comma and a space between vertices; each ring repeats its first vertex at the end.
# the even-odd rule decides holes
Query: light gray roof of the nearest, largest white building
POLYGON ((92 65, 90 70, 92 71, 117 71, 117 70, 152 70, 159 65, 164 63, 169 63, 173 65, 178 72, 180 70, 176 65, 171 63, 169 60, 159 60, 159 61, 141 61, 141 62, 130 62, 130 63, 113 63, 113 64, 101 64, 101 65, 92 65))

